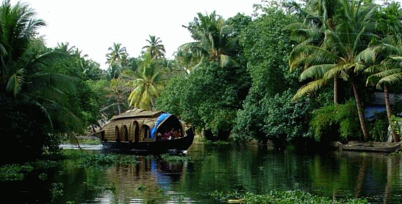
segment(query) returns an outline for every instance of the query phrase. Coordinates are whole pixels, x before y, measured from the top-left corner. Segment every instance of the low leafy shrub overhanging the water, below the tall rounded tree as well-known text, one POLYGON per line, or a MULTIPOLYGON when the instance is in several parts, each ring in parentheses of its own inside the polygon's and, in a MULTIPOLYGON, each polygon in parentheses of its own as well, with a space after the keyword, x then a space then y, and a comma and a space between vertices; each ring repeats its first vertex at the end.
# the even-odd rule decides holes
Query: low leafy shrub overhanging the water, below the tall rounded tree
POLYGON ((288 90, 244 105, 246 109, 237 114, 234 137, 255 138, 262 142, 272 140, 279 147, 288 143, 304 145, 311 138, 308 122, 318 103, 308 97, 292 102, 292 97, 288 90))

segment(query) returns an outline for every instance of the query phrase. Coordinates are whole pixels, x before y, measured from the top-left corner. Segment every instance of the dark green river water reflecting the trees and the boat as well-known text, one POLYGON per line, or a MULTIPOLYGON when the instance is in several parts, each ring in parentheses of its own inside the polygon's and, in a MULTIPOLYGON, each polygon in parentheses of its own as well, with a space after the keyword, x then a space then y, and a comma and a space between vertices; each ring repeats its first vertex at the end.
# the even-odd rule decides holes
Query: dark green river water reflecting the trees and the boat
MULTIPOLYGON (((193 144, 188 156, 193 161, 140 156, 137 166, 96 168, 65 161, 61 169, 36 185, 38 194, 50 195, 54 203, 216 203, 208 196, 213 191, 266 194, 274 189, 301 189, 334 199, 364 197, 371 203, 402 202, 399 156, 359 152, 303 155, 252 145, 202 143, 193 144)), ((20 190, 17 196, 27 194, 33 193, 20 190)))

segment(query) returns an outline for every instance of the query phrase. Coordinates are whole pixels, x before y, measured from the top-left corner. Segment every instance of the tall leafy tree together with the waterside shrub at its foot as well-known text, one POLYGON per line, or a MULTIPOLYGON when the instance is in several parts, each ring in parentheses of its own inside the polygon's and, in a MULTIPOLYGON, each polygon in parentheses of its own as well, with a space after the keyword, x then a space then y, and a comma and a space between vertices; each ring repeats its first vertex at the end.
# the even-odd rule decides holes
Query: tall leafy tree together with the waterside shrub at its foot
POLYGON ((308 132, 308 117, 313 101, 292 103, 297 74, 288 71, 292 41, 283 27, 297 17, 274 8, 248 24, 240 34, 252 86, 234 125, 234 138, 274 140, 284 145, 308 132), (300 109, 301 108, 301 109, 300 109), (299 119, 298 119, 299 118, 299 119))

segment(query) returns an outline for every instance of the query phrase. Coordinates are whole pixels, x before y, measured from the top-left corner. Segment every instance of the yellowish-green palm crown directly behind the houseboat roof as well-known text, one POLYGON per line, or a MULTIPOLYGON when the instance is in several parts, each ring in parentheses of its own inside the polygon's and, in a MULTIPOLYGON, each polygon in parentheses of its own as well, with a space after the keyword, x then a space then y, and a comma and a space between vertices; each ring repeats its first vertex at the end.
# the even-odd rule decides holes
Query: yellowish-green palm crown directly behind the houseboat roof
POLYGON ((128 104, 144 110, 154 110, 154 101, 163 88, 163 70, 158 61, 151 54, 144 55, 140 68, 137 72, 126 70, 122 78, 128 80, 128 86, 132 87, 128 104))

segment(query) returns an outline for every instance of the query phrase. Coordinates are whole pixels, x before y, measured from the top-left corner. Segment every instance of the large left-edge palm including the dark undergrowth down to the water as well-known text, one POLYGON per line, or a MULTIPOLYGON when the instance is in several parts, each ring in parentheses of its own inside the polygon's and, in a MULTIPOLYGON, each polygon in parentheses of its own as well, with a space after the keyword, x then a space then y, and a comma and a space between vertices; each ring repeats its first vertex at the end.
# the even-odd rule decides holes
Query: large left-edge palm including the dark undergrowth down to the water
POLYGON ((4 131, 13 143, 10 148, 27 156, 57 148, 54 135, 84 129, 81 107, 71 104, 70 97, 77 94, 77 78, 57 68, 70 55, 46 48, 36 38, 45 25, 27 3, 0 5, 0 98, 7 110, 1 118, 8 121, 4 131))

